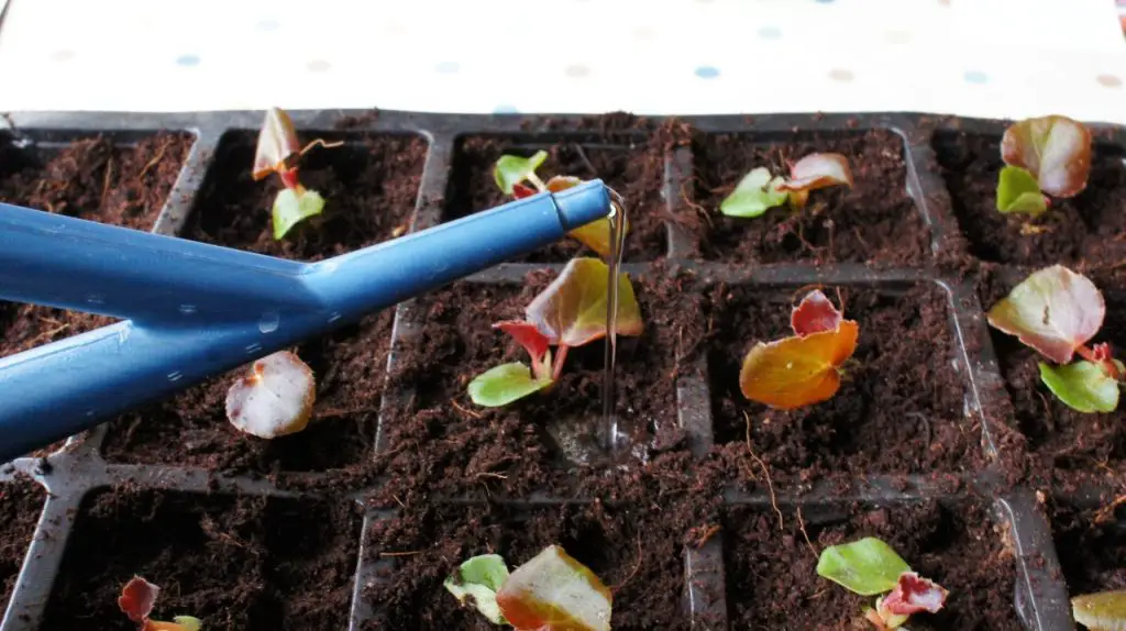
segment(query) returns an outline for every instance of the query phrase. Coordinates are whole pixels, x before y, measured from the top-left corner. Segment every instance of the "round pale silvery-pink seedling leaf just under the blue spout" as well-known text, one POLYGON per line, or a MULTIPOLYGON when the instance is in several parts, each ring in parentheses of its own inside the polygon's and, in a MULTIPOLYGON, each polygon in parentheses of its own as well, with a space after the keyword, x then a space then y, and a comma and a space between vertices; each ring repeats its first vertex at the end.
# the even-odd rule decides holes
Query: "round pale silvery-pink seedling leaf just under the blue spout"
POLYGON ((240 432, 275 439, 309 425, 316 399, 313 371, 297 355, 279 351, 256 361, 226 391, 226 417, 240 432))

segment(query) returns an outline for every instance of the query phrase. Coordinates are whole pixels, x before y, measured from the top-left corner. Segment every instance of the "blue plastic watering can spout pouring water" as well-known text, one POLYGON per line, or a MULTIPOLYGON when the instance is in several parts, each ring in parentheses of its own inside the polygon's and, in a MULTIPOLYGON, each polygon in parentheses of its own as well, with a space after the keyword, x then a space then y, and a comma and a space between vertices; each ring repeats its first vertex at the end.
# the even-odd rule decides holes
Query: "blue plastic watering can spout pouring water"
POLYGON ((0 462, 609 211, 593 180, 302 263, 0 204, 0 298, 125 321, 0 359, 0 462))

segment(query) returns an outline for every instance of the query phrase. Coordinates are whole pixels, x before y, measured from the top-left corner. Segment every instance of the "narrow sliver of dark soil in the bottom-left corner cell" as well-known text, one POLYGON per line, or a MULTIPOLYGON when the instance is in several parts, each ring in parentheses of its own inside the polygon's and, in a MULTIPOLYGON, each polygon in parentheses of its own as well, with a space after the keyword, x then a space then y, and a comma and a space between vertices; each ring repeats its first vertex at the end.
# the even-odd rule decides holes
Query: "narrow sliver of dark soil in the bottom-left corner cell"
POLYGON ((8 598, 16 588, 19 568, 24 565, 27 547, 35 534, 35 524, 43 512, 46 494, 27 479, 0 483, 0 619, 8 607, 8 598))

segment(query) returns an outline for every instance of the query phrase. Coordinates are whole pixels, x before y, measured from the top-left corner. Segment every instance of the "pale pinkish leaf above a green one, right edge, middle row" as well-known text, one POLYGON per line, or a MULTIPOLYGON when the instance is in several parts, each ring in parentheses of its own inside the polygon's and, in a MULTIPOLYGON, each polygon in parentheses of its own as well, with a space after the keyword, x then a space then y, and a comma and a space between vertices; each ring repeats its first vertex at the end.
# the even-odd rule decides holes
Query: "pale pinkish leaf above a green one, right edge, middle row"
POLYGON ((1098 333, 1105 316, 1106 304, 1093 282, 1053 265, 1029 274, 988 317, 994 328, 1062 364, 1098 333))

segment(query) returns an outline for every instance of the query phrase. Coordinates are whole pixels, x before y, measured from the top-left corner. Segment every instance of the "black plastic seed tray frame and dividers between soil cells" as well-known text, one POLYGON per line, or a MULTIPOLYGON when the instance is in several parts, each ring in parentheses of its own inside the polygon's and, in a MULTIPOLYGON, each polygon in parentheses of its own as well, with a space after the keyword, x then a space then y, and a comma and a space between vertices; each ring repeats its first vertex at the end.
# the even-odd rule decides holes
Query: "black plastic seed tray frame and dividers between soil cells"
MULTIPOLYGON (((465 116, 430 115, 394 111, 293 111, 291 112, 300 132, 320 132, 333 138, 348 142, 363 134, 394 134, 418 136, 428 145, 414 213, 410 231, 420 231, 443 220, 444 200, 450 190, 453 178, 459 165, 461 141, 465 136, 504 136, 517 144, 534 146, 536 143, 556 142, 562 138, 574 142, 591 142, 593 134, 583 119, 577 116, 465 116)), ((202 112, 202 114, 66 114, 24 112, 11 116, 16 126, 15 137, 21 143, 50 147, 77 138, 105 134, 115 142, 129 143, 158 130, 180 130, 194 135, 194 144, 180 172, 168 202, 153 231, 162 234, 179 234, 189 219, 190 213, 199 213, 197 193, 216 168, 214 157, 221 143, 231 134, 252 135, 261 120, 254 111, 202 112)), ((660 123, 661 119, 654 119, 660 123)), ((783 289, 793 289, 811 283, 830 287, 873 287, 890 294, 902 292, 904 288, 932 285, 946 296, 949 309, 949 327, 958 340, 956 357, 936 358, 950 362, 965 382, 965 415, 967 426, 981 426, 981 445, 985 461, 998 457, 997 438, 991 424, 985 421, 985 412, 1003 408, 999 398, 1006 396, 1003 380, 994 357, 986 328, 982 306, 974 287, 955 272, 942 271, 936 262, 949 245, 950 235, 958 232, 950 196, 938 172, 933 148, 935 138, 941 134, 962 130, 983 135, 1000 136, 1003 121, 967 120, 949 117, 930 117, 914 114, 875 115, 768 115, 754 116, 704 116, 685 117, 683 121, 703 134, 745 133, 749 137, 787 138, 795 133, 817 133, 826 136, 848 135, 866 129, 887 129, 903 142, 908 163, 906 181, 902 182, 913 199, 924 225, 931 231, 930 252, 923 264, 911 268, 867 267, 861 263, 842 264, 766 264, 745 265, 705 261, 692 241, 677 224, 668 222, 667 249, 662 265, 651 261, 631 260, 627 271, 634 274, 665 274, 691 270, 696 273, 696 289, 707 291, 717 283, 730 287, 751 287, 757 292, 769 295, 783 289)), ((1118 147, 1126 146, 1126 130, 1111 126, 1100 128, 1100 142, 1118 147)), ((635 135, 643 136, 637 129, 635 135)), ((628 134, 625 134, 627 136, 628 134)), ((628 138, 622 141, 628 144, 628 138)), ((610 147, 613 148, 613 147, 610 147)), ((667 151, 664 156, 663 202, 672 215, 683 210, 686 201, 682 191, 694 172, 694 150, 678 146, 667 151)), ((498 285, 519 283, 534 269, 561 269, 562 263, 504 263, 467 279, 471 283, 498 285)), ((1006 269, 1013 278, 1027 270, 1006 269)), ((425 298, 421 298, 425 299, 425 298)), ((388 364, 394 366, 396 352, 409 343, 414 331, 422 324, 423 314, 417 308, 417 300, 400 305, 395 312, 388 364)), ((716 442, 713 431, 713 412, 709 395, 707 362, 700 360, 698 371, 682 377, 677 384, 679 407, 677 417, 687 433, 690 451, 703 458, 716 442)), ((391 371, 388 370, 388 373, 391 371)), ((411 399, 409 389, 387 391, 382 399, 383 412, 388 406, 405 405, 411 399)), ((384 413, 381 413, 381 417, 384 413)), ((905 421, 906 422, 906 421, 905 421)), ((373 457, 386 450, 384 427, 370 436, 373 457)), ((28 549, 19 574, 18 584, 8 606, 0 631, 37 630, 44 616, 53 586, 59 580, 61 564, 71 539, 75 519, 81 519, 83 499, 98 489, 128 485, 135 488, 175 489, 185 493, 223 495, 241 493, 286 498, 296 495, 285 490, 269 478, 226 476, 204 467, 171 467, 150 465, 117 465, 107 462, 101 456, 105 429, 74 436, 57 452, 46 458, 26 458, 6 466, 0 481, 16 476, 29 476, 48 492, 38 521, 37 531, 28 549)), ((315 478, 319 474, 304 474, 315 478)), ((614 475, 611 471, 608 475, 614 475)), ((1013 606, 1029 630, 1063 631, 1074 629, 1070 615, 1069 594, 1062 580, 1062 573, 1053 547, 1052 533, 1043 511, 1043 499, 1031 488, 1012 488, 1000 484, 999 472, 986 466, 971 474, 949 471, 927 471, 913 476, 869 475, 863 479, 840 480, 814 485, 778 485, 777 507, 785 512, 798 511, 810 523, 832 523, 847 519, 849 507, 855 505, 894 508, 910 506, 926 499, 937 499, 957 510, 965 502, 967 493, 974 490, 991 498, 993 520, 999 528, 997 537, 1012 553, 1017 569, 1013 606), (955 484, 951 484, 951 479, 955 484), (842 488, 847 490, 841 490, 842 488)), ((3 486, 0 485, 0 489, 3 486)), ((364 499, 375 489, 356 489, 355 502, 365 505, 364 499)), ((1092 497, 1105 497, 1110 488, 1088 489, 1082 497, 1063 496, 1062 502, 1092 502, 1092 497), (1084 499, 1085 498, 1085 499, 1084 499)), ((506 498, 517 506, 529 504, 582 503, 595 498, 552 498, 543 495, 525 498, 506 498)), ((484 499, 447 497, 435 502, 474 503, 484 499)), ((750 506, 762 512, 775 510, 775 502, 768 489, 744 492, 733 485, 724 494, 724 505, 736 510, 750 506)), ((393 519, 393 511, 368 510, 364 519, 363 532, 376 520, 393 519)), ((701 524, 703 525, 703 524, 701 524)), ((154 537, 159 537, 155 533, 154 537)), ((699 548, 686 548, 683 558, 683 607, 694 620, 696 629, 726 629, 729 595, 725 575, 730 574, 730 560, 725 558, 724 537, 711 537, 699 548)), ((393 569, 394 558, 375 558, 359 537, 356 558, 356 580, 351 600, 349 629, 358 630, 365 622, 379 620, 379 603, 366 602, 363 594, 366 585, 385 579, 386 570, 393 569)), ((1082 553, 1098 555, 1098 550, 1082 553)), ((154 578, 155 580, 155 578, 154 578)), ((446 594, 435 594, 435 598, 446 598, 446 594)), ((188 613, 188 612, 185 612, 188 613)), ((378 628, 378 627, 376 627, 378 628)), ((733 628, 733 625, 731 627, 733 628)))

